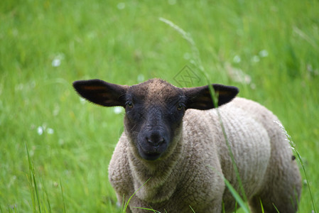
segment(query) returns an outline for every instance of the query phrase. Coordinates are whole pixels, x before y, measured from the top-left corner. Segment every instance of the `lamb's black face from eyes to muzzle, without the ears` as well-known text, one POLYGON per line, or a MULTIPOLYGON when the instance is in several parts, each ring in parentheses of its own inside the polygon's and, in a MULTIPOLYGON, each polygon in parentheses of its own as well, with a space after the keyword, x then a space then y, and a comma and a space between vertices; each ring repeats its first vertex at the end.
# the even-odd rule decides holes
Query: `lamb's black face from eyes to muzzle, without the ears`
POLYGON ((166 153, 185 114, 183 94, 162 97, 126 94, 125 126, 137 153, 145 160, 156 160, 166 153))

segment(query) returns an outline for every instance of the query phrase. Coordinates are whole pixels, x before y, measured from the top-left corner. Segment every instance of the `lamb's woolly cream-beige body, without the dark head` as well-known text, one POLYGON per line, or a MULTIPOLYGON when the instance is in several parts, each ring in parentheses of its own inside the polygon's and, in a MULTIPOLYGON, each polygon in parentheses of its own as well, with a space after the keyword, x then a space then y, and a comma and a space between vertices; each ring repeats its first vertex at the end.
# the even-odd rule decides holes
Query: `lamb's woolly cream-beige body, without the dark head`
MULTIPOLYGON (((218 110, 252 210, 259 212, 261 198, 265 212, 273 209, 273 203, 281 212, 295 212, 301 177, 286 136, 274 123, 276 116, 242 98, 218 110)), ((124 197, 127 202, 136 192, 129 203, 131 212, 145 212, 134 207, 160 212, 192 212, 190 207, 197 213, 221 212, 222 202, 226 212, 234 210, 235 200, 222 175, 238 192, 239 182, 216 109, 188 109, 180 138, 175 138, 173 153, 165 160, 136 158, 127 135, 122 134, 115 148, 109 180, 119 201, 124 197)))

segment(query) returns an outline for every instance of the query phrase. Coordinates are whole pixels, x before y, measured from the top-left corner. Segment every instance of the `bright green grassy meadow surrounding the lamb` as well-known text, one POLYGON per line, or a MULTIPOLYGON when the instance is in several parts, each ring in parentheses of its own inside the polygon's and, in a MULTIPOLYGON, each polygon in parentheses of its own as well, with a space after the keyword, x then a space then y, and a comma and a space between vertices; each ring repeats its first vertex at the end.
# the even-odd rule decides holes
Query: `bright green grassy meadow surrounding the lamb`
MULTIPOLYGON (((107 167, 123 114, 80 101, 72 82, 177 84, 188 65, 193 86, 206 84, 188 41, 160 17, 192 35, 210 82, 279 116, 319 209, 318 11, 308 0, 1 1, 0 211, 121 212, 107 167)), ((312 209, 305 185, 299 212, 312 209)))

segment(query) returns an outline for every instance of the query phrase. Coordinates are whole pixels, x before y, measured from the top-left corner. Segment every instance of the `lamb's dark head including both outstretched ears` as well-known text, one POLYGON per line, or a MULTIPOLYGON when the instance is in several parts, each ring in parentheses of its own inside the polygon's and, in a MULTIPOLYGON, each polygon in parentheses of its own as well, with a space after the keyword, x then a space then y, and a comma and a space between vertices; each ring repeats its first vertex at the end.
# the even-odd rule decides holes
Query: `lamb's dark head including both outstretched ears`
MULTIPOLYGON (((83 80, 73 83, 80 96, 104 107, 121 106, 126 114, 126 135, 138 158, 157 160, 168 155, 180 132, 187 109, 212 109, 215 104, 208 86, 178 88, 159 79, 131 87, 102 80, 83 80)), ((237 87, 212 84, 217 105, 230 102, 238 93, 237 87)))

